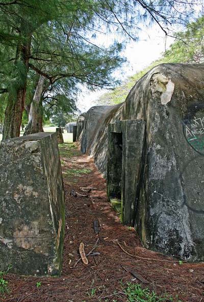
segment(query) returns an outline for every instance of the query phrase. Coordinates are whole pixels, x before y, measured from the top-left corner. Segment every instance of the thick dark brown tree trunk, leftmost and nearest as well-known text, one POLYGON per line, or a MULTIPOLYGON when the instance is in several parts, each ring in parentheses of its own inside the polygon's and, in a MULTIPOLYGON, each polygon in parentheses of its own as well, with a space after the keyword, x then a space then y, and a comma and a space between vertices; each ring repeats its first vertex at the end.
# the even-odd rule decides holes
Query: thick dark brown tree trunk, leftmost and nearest
POLYGON ((21 34, 20 42, 16 50, 15 68, 17 63, 21 63, 24 69, 22 75, 16 80, 15 93, 9 93, 8 103, 5 111, 3 140, 18 137, 20 135, 20 125, 22 120, 22 112, 24 108, 27 76, 29 71, 29 57, 31 49, 31 34, 27 34, 27 38, 21 34))

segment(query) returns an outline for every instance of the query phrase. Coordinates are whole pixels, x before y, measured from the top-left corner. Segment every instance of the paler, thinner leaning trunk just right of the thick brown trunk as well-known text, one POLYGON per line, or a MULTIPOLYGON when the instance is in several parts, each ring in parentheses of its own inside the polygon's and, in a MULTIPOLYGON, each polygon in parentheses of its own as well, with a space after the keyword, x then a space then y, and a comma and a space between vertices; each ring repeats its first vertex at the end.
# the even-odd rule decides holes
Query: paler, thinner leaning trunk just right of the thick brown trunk
POLYGON ((23 135, 29 135, 33 133, 43 132, 42 127, 42 102, 41 96, 44 89, 45 78, 40 75, 36 91, 31 103, 29 112, 29 123, 25 128, 23 135))

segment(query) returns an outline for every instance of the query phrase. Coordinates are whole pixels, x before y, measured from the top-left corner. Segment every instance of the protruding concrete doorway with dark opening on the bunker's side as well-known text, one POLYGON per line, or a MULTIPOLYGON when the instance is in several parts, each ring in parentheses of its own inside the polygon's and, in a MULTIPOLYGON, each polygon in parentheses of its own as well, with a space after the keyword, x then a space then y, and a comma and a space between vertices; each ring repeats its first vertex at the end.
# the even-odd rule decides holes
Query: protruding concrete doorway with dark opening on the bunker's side
POLYGON ((109 124, 107 191, 125 225, 134 226, 140 192, 145 122, 122 120, 109 124))

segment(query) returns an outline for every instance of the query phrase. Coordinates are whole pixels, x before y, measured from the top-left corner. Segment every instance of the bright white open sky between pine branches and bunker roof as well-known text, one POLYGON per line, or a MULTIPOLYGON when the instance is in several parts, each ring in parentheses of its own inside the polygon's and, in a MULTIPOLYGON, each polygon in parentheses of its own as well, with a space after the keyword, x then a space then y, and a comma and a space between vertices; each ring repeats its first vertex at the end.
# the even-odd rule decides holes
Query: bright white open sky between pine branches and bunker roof
MULTIPOLYGON (((104 37, 105 44, 108 44, 109 39, 108 36, 104 37)), ((115 71, 114 75, 122 81, 136 74, 148 67, 151 62, 160 58, 165 51, 165 47, 168 48, 172 42, 173 38, 165 38, 164 32, 156 25, 147 29, 143 28, 139 34, 139 40, 130 41, 121 53, 122 56, 127 58, 127 62, 115 71)), ((87 89, 83 89, 78 100, 79 110, 81 112, 88 111, 90 107, 95 105, 96 99, 107 91, 101 89, 96 92, 89 92, 87 89)))

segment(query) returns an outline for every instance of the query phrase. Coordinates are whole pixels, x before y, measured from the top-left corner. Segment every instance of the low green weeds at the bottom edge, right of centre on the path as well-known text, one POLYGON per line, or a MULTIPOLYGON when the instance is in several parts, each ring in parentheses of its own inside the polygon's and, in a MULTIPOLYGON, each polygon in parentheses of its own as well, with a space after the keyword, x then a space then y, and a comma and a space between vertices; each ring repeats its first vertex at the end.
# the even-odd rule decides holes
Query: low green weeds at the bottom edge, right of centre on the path
POLYGON ((173 301, 172 297, 158 296, 154 291, 150 291, 148 288, 142 289, 140 284, 127 283, 123 289, 124 294, 127 297, 128 302, 169 302, 173 301))

